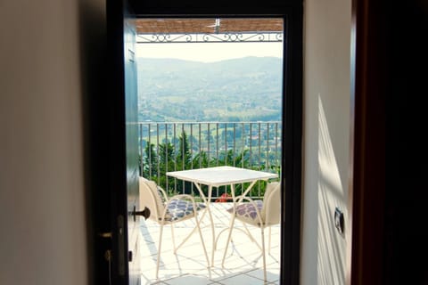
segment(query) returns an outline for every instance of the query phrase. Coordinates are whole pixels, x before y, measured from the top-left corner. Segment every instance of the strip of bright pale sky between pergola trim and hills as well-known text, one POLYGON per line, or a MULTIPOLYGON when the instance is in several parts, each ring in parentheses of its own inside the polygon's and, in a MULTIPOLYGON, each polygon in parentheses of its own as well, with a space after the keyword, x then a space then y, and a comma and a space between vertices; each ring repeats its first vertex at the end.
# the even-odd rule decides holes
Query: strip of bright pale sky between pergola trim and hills
POLYGON ((246 56, 283 57, 283 43, 136 44, 136 56, 214 62, 246 56))

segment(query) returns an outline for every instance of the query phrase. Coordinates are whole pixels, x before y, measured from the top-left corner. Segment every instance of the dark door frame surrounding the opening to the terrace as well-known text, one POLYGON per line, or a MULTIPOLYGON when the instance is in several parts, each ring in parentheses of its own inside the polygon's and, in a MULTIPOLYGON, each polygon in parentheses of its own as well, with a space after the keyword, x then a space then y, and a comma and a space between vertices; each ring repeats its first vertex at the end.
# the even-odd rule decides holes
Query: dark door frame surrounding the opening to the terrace
MULTIPOLYGON (((300 283, 300 197, 301 197, 301 136, 302 136, 302 19, 303 7, 301 0, 267 0, 263 6, 259 4, 225 2, 198 2, 187 0, 178 4, 169 0, 166 2, 142 2, 137 0, 129 1, 132 11, 136 17, 234 17, 234 18, 258 18, 275 17, 284 19, 284 69, 283 69, 283 151, 282 168, 283 175, 281 183, 283 185, 282 195, 282 224, 281 224, 281 273, 280 283, 289 285, 299 285, 300 283), (285 139, 286 138, 286 139, 285 139), (287 163, 285 163, 287 162, 287 163)), ((123 2, 107 1, 107 14, 114 12, 114 20, 107 21, 107 30, 110 35, 119 37, 123 32, 123 2), (121 16, 121 19, 120 19, 121 16)), ((111 17, 111 16, 110 16, 111 17)), ((119 251, 118 235, 114 232, 117 227, 117 213, 127 213, 126 200, 126 175, 117 175, 117 171, 126 170, 125 148, 125 124, 121 120, 125 118, 124 99, 118 98, 114 94, 123 92, 123 77, 119 70, 123 72, 123 58, 111 58, 111 54, 118 53, 117 43, 111 42, 115 37, 107 37, 107 60, 111 66, 107 76, 107 82, 111 86, 106 90, 107 97, 99 93, 97 99, 103 98, 103 111, 93 106, 89 107, 91 128, 98 126, 94 135, 96 139, 91 141, 90 150, 92 165, 91 180, 95 191, 91 195, 92 204, 95 199, 105 191, 109 192, 108 198, 103 198, 103 206, 96 206, 94 211, 94 227, 91 232, 94 235, 95 243, 95 283, 107 283, 105 274, 108 273, 106 261, 103 256, 106 248, 113 247, 113 251, 119 251), (110 62, 112 61, 112 62, 110 62), (122 69, 120 69, 122 67, 122 69), (114 80, 113 80, 114 79, 114 80), (114 82, 114 84, 112 84, 114 82), (98 110, 96 114, 91 110, 98 110), (95 118, 96 115, 107 115, 107 120, 95 118), (119 119, 119 120, 118 120, 119 119), (98 143, 106 143, 103 151, 95 150, 98 143), (96 145, 95 145, 96 144, 96 145), (116 151, 114 151, 116 150, 116 151), (107 151, 108 157, 104 156, 107 151), (103 169, 104 171, 100 170, 103 169), (116 175, 115 175, 116 174, 116 175), (125 193, 117 191, 123 189, 125 193), (108 214, 107 214, 108 213, 108 214), (116 214, 114 214, 116 213, 116 214), (109 217, 110 223, 106 221, 109 217), (100 232, 113 232, 111 240, 100 241, 97 236, 100 232), (116 247, 116 248, 115 248, 116 247)), ((104 89, 105 90, 105 89, 104 89)), ((126 220, 125 216, 125 220, 126 220)), ((124 225, 125 240, 128 240, 127 225, 124 225)), ((128 254, 128 244, 125 253, 128 254)), ((124 257, 124 256, 122 256, 124 257)), ((128 265, 126 265, 128 272, 128 265)), ((108 284, 108 283, 107 283, 108 284)), ((128 277, 115 275, 113 271, 113 284, 127 284, 128 277)))

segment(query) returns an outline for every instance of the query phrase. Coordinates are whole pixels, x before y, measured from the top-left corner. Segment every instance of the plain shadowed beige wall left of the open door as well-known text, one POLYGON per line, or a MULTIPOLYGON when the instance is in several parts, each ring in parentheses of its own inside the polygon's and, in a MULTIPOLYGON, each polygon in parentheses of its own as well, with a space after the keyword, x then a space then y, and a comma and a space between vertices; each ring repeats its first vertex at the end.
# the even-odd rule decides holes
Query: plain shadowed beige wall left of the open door
POLYGON ((1 1, 0 31, 0 284, 85 285, 78 1, 1 1))

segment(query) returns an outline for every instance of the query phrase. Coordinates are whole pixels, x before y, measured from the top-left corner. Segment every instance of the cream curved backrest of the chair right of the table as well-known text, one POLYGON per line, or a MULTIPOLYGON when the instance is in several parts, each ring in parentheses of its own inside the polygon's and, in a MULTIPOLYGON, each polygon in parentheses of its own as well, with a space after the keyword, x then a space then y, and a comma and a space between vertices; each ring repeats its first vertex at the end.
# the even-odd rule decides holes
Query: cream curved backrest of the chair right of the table
POLYGON ((279 224, 281 218, 281 183, 268 183, 260 216, 265 225, 279 224))

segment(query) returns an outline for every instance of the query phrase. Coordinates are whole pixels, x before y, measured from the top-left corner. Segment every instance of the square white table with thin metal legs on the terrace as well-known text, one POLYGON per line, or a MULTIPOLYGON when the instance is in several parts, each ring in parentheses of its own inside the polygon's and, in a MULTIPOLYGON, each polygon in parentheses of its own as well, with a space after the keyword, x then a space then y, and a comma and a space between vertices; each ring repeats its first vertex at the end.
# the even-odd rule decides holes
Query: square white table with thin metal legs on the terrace
MULTIPOLYGON (((207 205, 207 211, 210 216, 211 233, 212 233, 212 254, 211 254, 211 266, 214 264, 214 251, 216 248, 216 238, 214 232, 214 222, 210 211, 210 201, 213 187, 230 185, 232 199, 235 205, 235 184, 239 183, 250 183, 243 196, 251 191, 252 186, 259 180, 265 180, 277 178, 278 175, 275 173, 268 173, 264 171, 256 171, 251 169, 239 168, 239 167, 209 167, 192 170, 181 170, 167 172, 170 177, 176 177, 177 179, 192 182, 201 194, 202 199, 207 205), (202 185, 208 185, 208 198, 202 191, 202 185)), ((231 224, 232 226, 232 224, 231 224)))

